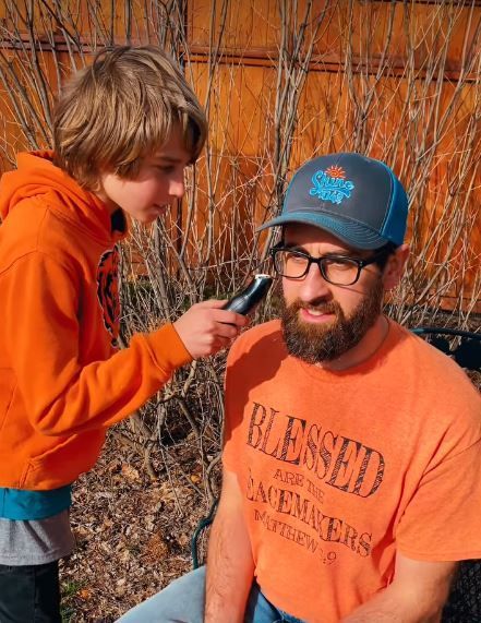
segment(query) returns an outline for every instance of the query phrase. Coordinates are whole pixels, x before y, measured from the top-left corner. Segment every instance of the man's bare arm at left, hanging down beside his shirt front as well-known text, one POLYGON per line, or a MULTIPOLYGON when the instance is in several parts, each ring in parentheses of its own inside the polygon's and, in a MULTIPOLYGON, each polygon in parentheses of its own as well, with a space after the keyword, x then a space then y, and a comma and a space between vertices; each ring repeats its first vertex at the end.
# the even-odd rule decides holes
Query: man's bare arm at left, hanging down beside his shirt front
POLYGON ((207 553, 204 623, 242 623, 254 576, 251 541, 237 476, 224 469, 207 553))

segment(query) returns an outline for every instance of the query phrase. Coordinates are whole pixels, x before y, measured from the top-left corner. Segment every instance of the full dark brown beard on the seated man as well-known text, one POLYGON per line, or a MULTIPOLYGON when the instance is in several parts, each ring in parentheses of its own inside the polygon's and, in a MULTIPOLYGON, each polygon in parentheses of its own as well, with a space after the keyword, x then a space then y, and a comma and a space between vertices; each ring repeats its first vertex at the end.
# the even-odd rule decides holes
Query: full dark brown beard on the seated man
POLYGON ((336 301, 318 299, 304 303, 297 299, 286 305, 282 299, 281 325, 288 352, 308 363, 337 359, 357 346, 374 325, 381 313, 383 296, 383 283, 377 279, 348 318, 336 301), (301 309, 333 313, 336 319, 318 324, 302 322, 299 319, 301 309))

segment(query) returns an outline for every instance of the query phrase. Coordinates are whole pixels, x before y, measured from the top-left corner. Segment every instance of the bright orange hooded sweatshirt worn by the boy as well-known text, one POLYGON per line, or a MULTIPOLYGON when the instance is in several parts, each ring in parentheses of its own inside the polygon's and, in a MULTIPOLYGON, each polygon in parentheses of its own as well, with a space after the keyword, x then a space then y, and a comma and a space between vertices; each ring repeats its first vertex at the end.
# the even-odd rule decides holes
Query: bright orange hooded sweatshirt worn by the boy
POLYGON ((124 233, 51 156, 20 154, 0 182, 0 487, 14 489, 75 480, 106 428, 191 361, 171 324, 117 350, 124 233))

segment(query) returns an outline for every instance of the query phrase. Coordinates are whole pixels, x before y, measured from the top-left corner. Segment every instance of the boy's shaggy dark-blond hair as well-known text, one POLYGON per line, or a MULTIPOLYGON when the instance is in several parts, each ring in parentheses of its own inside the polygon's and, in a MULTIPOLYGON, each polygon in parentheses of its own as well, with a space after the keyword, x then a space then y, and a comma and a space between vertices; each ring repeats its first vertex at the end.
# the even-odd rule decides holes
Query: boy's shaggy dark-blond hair
POLYGON ((103 172, 134 179, 142 159, 178 124, 195 161, 207 121, 172 59, 154 46, 99 52, 60 96, 53 119, 55 164, 96 190, 103 172))

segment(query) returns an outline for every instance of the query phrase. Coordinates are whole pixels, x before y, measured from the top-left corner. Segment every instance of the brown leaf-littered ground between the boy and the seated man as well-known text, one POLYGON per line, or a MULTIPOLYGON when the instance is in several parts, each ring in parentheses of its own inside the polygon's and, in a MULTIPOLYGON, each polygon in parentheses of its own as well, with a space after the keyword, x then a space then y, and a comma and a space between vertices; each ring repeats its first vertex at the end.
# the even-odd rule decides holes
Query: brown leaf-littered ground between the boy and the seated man
POLYGON ((189 448, 170 448, 181 468, 170 465, 153 481, 109 434, 96 467, 74 487, 77 548, 60 572, 63 621, 116 621, 192 568, 190 539, 208 502, 189 448))

